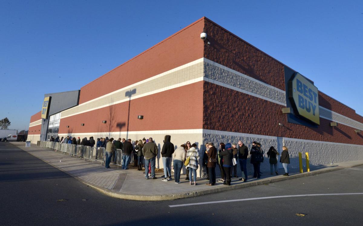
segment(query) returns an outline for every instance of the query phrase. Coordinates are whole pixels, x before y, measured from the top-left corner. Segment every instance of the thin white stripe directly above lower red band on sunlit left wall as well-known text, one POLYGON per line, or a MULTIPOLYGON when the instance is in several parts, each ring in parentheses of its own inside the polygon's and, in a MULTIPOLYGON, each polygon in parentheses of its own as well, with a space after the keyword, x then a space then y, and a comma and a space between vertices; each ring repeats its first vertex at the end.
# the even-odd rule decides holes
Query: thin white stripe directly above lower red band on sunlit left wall
POLYGON ((100 109, 100 108, 105 108, 105 107, 108 107, 108 106, 111 106, 111 105, 114 105, 114 104, 119 104, 119 103, 122 103, 122 102, 129 101, 129 100, 134 100, 134 99, 137 99, 137 98, 140 98, 140 97, 145 97, 145 96, 148 96, 148 95, 151 95, 151 94, 164 92, 166 90, 175 89, 175 88, 178 88, 178 87, 181 87, 181 86, 184 86, 184 85, 190 85, 190 84, 193 84, 193 83, 199 82, 199 81, 203 81, 203 77, 194 78, 192 80, 181 82, 181 83, 176 84, 176 85, 171 85, 171 86, 167 86, 167 87, 164 87, 164 88, 161 88, 161 89, 153 90, 151 92, 136 95, 136 96, 131 97, 131 99, 130 98, 125 98, 123 100, 115 101, 115 102, 112 102, 110 104, 105 104, 105 105, 98 106, 96 108, 91 108, 91 109, 87 109, 87 110, 77 112, 77 113, 74 113, 74 114, 69 114, 67 116, 61 117, 61 119, 66 118, 66 117, 70 117, 70 116, 74 116, 74 115, 77 115, 77 114, 85 113, 85 112, 90 112, 90 111, 97 110, 97 109, 100 109))

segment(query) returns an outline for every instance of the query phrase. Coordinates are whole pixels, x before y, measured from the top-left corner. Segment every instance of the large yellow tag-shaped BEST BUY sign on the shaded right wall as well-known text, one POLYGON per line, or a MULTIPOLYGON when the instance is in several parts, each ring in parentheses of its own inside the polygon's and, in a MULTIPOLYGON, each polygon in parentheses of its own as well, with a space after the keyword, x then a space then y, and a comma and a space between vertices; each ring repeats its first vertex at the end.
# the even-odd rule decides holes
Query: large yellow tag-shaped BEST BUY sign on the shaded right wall
POLYGON ((289 99, 295 113, 320 125, 318 88, 297 72, 289 81, 289 99))

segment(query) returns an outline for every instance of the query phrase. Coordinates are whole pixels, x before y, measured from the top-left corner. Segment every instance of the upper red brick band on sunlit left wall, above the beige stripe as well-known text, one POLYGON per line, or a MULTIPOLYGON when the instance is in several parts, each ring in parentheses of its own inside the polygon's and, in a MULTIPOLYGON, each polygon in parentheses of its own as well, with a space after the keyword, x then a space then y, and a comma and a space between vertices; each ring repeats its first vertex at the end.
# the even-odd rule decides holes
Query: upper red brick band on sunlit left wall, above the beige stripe
POLYGON ((204 19, 196 21, 81 88, 79 104, 203 57, 204 19))

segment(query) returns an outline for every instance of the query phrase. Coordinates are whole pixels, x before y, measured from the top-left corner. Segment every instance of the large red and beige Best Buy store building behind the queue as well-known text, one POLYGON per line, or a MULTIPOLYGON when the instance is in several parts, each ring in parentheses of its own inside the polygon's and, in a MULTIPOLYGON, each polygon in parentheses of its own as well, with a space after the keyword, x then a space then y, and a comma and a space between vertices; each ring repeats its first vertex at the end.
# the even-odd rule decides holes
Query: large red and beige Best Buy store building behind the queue
POLYGON ((265 153, 287 146, 292 167, 298 152, 311 165, 362 160, 363 117, 302 74, 203 17, 80 90, 45 94, 28 139, 152 137, 161 148, 170 134, 200 155, 208 141, 256 140, 265 153))

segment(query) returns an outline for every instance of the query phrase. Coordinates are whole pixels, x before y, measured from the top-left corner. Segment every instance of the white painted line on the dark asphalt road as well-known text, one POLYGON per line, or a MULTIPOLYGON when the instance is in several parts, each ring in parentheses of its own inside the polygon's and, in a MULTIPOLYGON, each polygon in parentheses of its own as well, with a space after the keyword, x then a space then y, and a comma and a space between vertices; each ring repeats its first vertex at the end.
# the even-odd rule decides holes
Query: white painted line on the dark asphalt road
POLYGON ((212 202, 196 202, 196 203, 188 203, 188 204, 170 205, 169 207, 195 206, 195 205, 205 205, 205 204, 224 203, 224 202, 240 202, 240 201, 258 200, 258 199, 270 199, 270 198, 291 198, 291 197, 309 197, 309 196, 327 196, 327 195, 363 195, 363 193, 280 195, 280 196, 259 197, 259 198, 231 199, 231 200, 212 201, 212 202))

